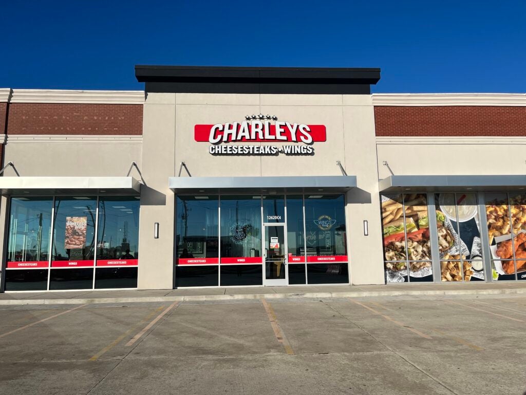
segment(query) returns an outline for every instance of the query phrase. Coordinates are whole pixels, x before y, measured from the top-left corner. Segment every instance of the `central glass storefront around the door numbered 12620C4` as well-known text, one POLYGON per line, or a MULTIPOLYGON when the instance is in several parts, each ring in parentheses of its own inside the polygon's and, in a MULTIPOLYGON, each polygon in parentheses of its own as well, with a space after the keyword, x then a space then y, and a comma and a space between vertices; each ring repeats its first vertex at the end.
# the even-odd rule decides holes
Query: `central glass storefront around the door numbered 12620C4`
MULTIPOLYGON (((176 287, 210 286, 217 282, 220 286, 262 285, 263 223, 285 223, 283 230, 287 233, 282 238, 287 246, 282 253, 287 256, 289 284, 307 283, 306 265, 314 263, 319 263, 312 266, 315 283, 320 283, 320 279, 325 283, 348 282, 343 195, 180 195, 176 211, 176 287), (307 199, 308 203, 304 203, 307 199), (305 208, 310 215, 308 232, 305 208), (307 248, 306 234, 311 236, 307 248), (193 240, 200 245, 189 245, 193 240), (219 249, 204 246, 217 241, 219 249), (217 264, 218 271, 211 269, 217 264)), ((267 244, 277 237, 271 233, 267 236, 267 244)), ((285 271, 277 273, 279 278, 286 278, 285 271)))

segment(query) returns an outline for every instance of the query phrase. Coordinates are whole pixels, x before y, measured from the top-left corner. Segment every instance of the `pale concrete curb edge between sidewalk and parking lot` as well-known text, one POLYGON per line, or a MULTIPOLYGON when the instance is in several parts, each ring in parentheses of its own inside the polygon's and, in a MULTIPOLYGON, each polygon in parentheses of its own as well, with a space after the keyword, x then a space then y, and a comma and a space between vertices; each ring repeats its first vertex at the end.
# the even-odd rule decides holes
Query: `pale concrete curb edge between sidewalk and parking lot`
POLYGON ((513 295, 526 294, 526 288, 488 289, 488 290, 401 290, 401 291, 355 291, 355 292, 307 292, 307 293, 260 293, 235 295, 181 295, 173 297, 131 297, 131 298, 83 298, 83 299, 4 299, 0 305, 27 304, 99 304, 99 303, 145 303, 145 302, 190 302, 190 301, 224 301, 250 299, 324 299, 324 298, 367 298, 396 297, 404 295, 513 295))

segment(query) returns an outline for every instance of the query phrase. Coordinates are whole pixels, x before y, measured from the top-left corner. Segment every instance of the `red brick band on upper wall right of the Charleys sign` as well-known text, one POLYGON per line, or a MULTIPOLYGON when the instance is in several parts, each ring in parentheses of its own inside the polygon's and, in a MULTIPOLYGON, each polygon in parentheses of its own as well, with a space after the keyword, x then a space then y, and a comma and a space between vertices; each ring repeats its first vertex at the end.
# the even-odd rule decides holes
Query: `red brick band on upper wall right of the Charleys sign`
POLYGON ((526 136, 526 107, 376 106, 375 127, 377 136, 526 136))

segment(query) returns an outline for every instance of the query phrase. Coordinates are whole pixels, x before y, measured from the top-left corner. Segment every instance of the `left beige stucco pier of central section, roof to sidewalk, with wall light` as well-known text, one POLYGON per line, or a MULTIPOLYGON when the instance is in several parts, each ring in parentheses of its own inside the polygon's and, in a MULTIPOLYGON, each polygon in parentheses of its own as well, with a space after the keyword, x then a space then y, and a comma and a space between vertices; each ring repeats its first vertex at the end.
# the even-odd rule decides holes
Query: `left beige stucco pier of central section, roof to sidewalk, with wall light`
POLYGON ((149 93, 144 105, 143 173, 139 226, 139 289, 173 288, 175 93, 149 93), (154 223, 159 238, 154 239, 154 223))

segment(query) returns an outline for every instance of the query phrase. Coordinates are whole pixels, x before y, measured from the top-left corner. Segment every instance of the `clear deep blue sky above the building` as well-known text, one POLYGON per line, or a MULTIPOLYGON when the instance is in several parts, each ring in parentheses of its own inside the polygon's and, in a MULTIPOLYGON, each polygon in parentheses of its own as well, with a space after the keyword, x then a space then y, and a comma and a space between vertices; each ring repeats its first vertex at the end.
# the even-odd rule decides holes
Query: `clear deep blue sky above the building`
POLYGON ((526 2, 2 2, 0 87, 140 90, 135 64, 380 67, 373 92, 526 92, 526 2))

